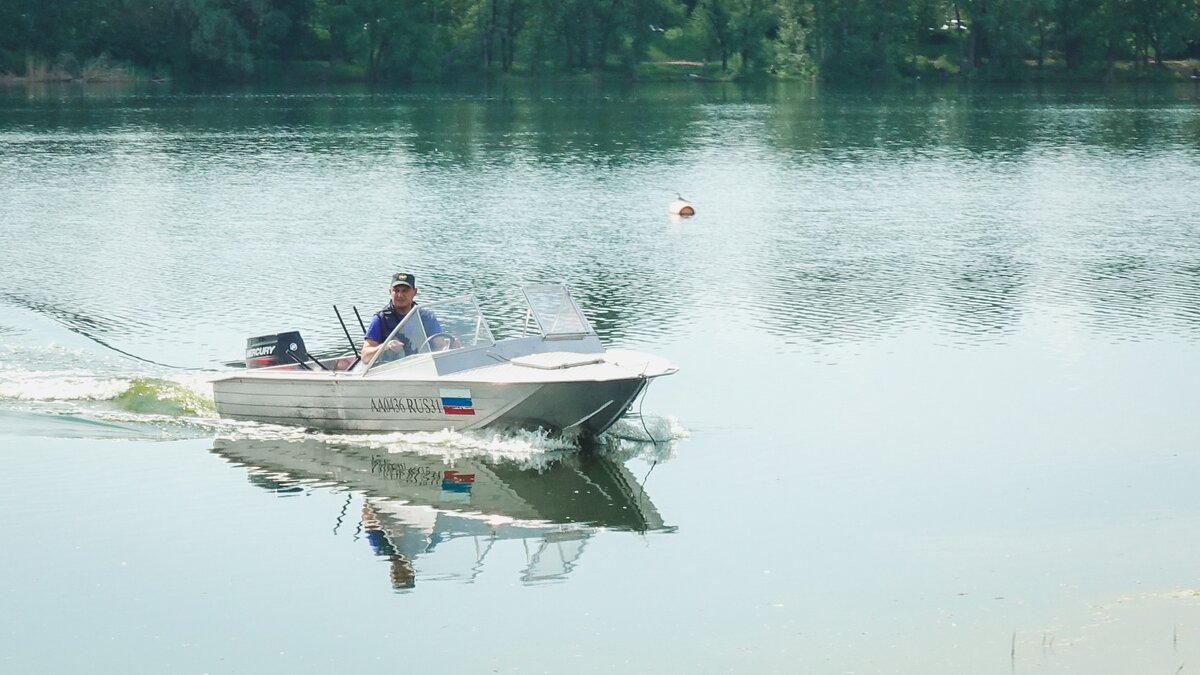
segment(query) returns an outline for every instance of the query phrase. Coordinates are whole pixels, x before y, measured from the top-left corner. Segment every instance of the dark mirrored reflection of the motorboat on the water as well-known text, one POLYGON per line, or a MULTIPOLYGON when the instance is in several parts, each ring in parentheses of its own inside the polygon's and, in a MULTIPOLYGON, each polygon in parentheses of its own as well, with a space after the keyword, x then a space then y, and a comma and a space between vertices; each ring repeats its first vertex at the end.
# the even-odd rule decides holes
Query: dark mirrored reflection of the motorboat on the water
POLYGON ((445 459, 334 441, 226 438, 212 452, 264 489, 361 495, 355 538, 390 561, 396 590, 469 581, 497 546, 523 550, 522 581, 560 580, 601 530, 672 530, 625 465, 602 454, 445 459))

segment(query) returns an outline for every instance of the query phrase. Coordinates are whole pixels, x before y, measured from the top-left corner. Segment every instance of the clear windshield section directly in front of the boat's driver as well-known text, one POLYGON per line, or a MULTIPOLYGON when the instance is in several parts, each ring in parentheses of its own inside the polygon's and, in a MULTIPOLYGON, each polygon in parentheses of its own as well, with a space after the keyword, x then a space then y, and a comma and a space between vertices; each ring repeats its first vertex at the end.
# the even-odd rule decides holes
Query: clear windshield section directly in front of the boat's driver
POLYGON ((484 313, 470 295, 439 300, 416 306, 388 335, 384 345, 398 342, 397 348, 379 350, 367 368, 424 354, 469 347, 492 346, 496 339, 484 321, 484 313))

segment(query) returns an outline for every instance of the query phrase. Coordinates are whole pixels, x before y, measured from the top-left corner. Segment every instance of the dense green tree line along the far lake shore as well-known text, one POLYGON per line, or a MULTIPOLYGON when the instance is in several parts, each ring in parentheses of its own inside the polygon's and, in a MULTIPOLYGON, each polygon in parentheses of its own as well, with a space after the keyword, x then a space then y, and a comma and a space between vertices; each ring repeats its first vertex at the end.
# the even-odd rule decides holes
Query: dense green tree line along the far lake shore
POLYGON ((0 0, 0 73, 1153 77, 1200 0, 0 0))

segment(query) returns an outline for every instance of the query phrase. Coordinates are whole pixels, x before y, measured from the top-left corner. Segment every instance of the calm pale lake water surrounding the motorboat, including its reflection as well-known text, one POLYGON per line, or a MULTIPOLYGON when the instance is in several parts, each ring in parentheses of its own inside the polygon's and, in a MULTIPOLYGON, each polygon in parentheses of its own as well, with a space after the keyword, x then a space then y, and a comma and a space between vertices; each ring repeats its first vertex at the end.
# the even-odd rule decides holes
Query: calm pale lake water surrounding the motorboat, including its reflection
POLYGON ((0 671, 1194 667, 1198 198, 1190 84, 0 90, 0 671), (214 417, 397 270, 680 371, 595 454, 214 417))

